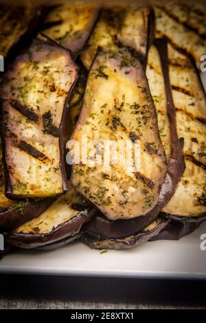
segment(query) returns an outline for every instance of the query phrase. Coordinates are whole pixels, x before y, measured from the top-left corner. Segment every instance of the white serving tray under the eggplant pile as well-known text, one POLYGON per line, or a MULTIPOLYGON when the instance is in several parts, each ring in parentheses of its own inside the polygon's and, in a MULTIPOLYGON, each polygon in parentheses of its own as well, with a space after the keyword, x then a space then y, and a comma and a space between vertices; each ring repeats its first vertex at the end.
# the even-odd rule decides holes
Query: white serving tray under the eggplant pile
POLYGON ((80 242, 51 252, 19 250, 0 260, 0 272, 128 278, 206 279, 206 251, 201 235, 206 222, 179 241, 147 242, 104 254, 80 242))

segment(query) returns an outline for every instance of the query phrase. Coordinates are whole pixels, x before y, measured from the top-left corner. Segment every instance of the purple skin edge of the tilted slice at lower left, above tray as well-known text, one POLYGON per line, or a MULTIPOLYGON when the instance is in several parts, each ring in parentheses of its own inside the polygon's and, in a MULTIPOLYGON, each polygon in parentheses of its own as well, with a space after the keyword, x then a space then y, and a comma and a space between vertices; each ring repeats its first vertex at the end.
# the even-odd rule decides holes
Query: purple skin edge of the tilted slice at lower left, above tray
POLYGON ((25 249, 43 247, 43 245, 56 243, 57 241, 62 241, 67 237, 71 238, 71 236, 78 234, 82 228, 82 225, 86 221, 89 221, 95 212, 96 210, 94 209, 89 210, 88 214, 85 214, 84 211, 80 212, 78 215, 74 216, 65 223, 60 223, 60 225, 52 230, 52 232, 46 234, 6 232, 4 234, 5 241, 10 245, 15 245, 16 247, 25 249))

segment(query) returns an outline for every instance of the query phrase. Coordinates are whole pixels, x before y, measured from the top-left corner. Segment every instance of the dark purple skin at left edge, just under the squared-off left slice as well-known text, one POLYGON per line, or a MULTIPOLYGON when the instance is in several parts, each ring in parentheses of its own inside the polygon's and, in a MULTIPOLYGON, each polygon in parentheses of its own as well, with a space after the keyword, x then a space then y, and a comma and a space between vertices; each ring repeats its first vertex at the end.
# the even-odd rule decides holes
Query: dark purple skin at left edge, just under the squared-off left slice
POLYGON ((0 213, 0 232, 10 232, 23 223, 41 215, 54 199, 48 198, 38 201, 21 201, 0 213))

